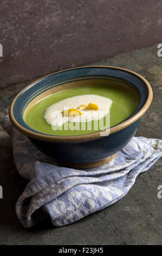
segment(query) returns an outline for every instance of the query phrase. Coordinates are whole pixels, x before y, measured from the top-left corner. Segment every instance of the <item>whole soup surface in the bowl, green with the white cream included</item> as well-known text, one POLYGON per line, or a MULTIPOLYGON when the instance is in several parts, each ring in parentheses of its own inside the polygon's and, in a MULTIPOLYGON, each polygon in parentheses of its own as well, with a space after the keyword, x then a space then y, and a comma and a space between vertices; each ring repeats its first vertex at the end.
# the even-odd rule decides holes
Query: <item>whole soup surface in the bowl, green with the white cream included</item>
POLYGON ((56 92, 38 101, 29 109, 24 121, 34 130, 49 135, 83 135, 119 124, 134 112, 138 103, 139 94, 129 86, 76 87, 56 92), (82 109, 82 107, 79 108, 80 103, 83 106, 93 103, 92 106, 97 106, 98 109, 82 109), (54 120, 49 118, 51 110, 58 110, 62 116, 63 107, 78 110, 79 116, 74 119, 63 117, 63 121, 60 121, 61 119, 56 118, 55 115, 54 120), (101 114, 96 118, 100 109, 102 113, 100 112, 101 114), (92 114, 95 116, 94 119, 90 119, 92 114), (84 119, 86 115, 88 118, 84 119))

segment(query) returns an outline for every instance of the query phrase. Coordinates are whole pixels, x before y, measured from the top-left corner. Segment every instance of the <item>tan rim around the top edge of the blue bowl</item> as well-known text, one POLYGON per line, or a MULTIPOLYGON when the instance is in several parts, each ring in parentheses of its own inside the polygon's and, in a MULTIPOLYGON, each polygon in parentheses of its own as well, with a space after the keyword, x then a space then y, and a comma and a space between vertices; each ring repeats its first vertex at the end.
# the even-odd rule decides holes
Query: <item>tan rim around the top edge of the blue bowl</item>
MULTIPOLYGON (((28 87, 30 87, 33 83, 36 83, 40 80, 42 80, 45 77, 51 76, 53 74, 57 74, 59 72, 63 72, 63 71, 67 71, 67 70, 73 70, 73 69, 79 69, 79 68, 94 68, 94 67, 98 67, 98 68, 112 68, 112 69, 117 69, 117 70, 122 70, 122 71, 126 71, 129 72, 132 75, 135 75, 137 77, 139 77, 146 85, 147 91, 148 91, 148 96, 147 96, 147 100, 144 104, 144 106, 142 106, 142 108, 135 114, 133 115, 131 118, 126 119, 125 121, 112 126, 111 128, 109 128, 109 135, 118 132, 124 128, 126 128, 127 126, 133 124, 135 121, 137 121, 139 118, 142 117, 142 115, 147 111, 147 109, 150 107, 151 102, 152 102, 152 97, 153 97, 153 93, 152 93, 152 88, 150 83, 147 82, 147 80, 142 77, 141 75, 137 74, 134 71, 125 69, 125 68, 119 68, 116 66, 104 66, 104 65, 92 65, 92 66, 79 66, 76 68, 70 68, 70 69, 65 69, 65 70, 61 70, 61 71, 57 71, 57 72, 53 72, 49 75, 43 76, 41 78, 39 78, 38 80, 33 81, 32 83, 30 83, 28 86, 24 87, 14 98, 14 100, 11 102, 10 108, 9 108, 9 118, 11 121, 11 124, 21 133, 23 133, 24 135, 31 137, 31 138, 35 138, 38 139, 40 141, 49 141, 49 142, 77 142, 77 141, 89 141, 91 139, 97 139, 97 138, 103 138, 100 136, 100 132, 101 131, 96 131, 93 133, 87 133, 85 135, 75 135, 75 136, 55 136, 55 135, 46 135, 46 134, 42 134, 42 133, 36 133, 33 131, 30 131, 28 129, 25 129, 23 126, 21 126, 19 123, 17 123, 16 119, 14 118, 14 114, 13 114, 13 107, 14 107, 14 103, 17 99, 17 97, 24 91, 26 90, 28 87)), ((108 129, 106 129, 108 130, 108 129)))

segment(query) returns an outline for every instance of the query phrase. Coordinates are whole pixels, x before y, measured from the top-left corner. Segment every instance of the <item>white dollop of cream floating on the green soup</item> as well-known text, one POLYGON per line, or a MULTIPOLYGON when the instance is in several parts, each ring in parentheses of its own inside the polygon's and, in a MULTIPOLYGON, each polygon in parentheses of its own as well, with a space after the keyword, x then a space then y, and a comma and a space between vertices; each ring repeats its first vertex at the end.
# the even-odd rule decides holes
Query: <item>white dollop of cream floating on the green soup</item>
POLYGON ((96 94, 73 96, 49 106, 44 113, 44 119, 48 124, 53 126, 62 126, 63 123, 66 123, 67 121, 77 123, 100 120, 109 112, 111 105, 111 99, 96 94), (88 105, 90 102, 98 105, 98 109, 79 108, 81 105, 88 105), (70 108, 79 109, 81 115, 64 117, 62 112, 70 108))

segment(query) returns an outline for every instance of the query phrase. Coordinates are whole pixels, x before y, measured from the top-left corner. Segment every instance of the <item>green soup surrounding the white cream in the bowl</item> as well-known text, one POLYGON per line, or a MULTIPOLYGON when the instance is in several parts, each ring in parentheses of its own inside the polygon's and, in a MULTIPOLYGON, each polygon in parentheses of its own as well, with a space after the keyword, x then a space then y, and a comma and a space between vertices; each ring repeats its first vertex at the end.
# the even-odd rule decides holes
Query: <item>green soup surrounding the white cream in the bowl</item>
MULTIPOLYGON (((55 129, 53 129, 51 125, 49 125, 44 119, 44 113, 46 111, 46 108, 48 108, 49 106, 61 100, 67 99, 68 97, 85 94, 96 94, 108 97, 112 100, 112 105, 109 110, 110 127, 119 124, 121 123, 121 121, 128 118, 129 115, 131 115, 135 111, 139 104, 139 94, 134 88, 130 86, 102 86, 102 84, 101 86, 88 86, 87 82, 86 87, 84 86, 65 89, 53 93, 47 97, 44 97, 44 99, 38 101, 29 109, 29 111, 25 114, 24 121, 32 129, 42 133, 46 133, 48 135, 75 136, 100 131, 101 129, 99 125, 98 130, 96 130, 96 125, 94 125, 94 122, 98 121, 92 121, 92 127, 90 128, 90 130, 90 126, 88 124, 86 124, 86 129, 84 130, 82 130, 81 128, 79 130, 75 130, 75 128, 73 130, 64 130, 64 125, 62 127, 59 127, 59 129, 58 127, 55 127, 55 129)), ((105 122, 106 117, 103 118, 103 124, 106 124, 105 122)))

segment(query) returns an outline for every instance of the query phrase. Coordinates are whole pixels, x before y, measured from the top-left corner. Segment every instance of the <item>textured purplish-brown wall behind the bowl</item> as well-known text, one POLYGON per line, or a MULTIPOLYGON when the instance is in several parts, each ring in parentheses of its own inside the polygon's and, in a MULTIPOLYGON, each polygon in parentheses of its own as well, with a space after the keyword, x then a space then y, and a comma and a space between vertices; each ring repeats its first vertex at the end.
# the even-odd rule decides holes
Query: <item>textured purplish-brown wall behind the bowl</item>
POLYGON ((161 42, 162 1, 1 0, 0 87, 161 42))

